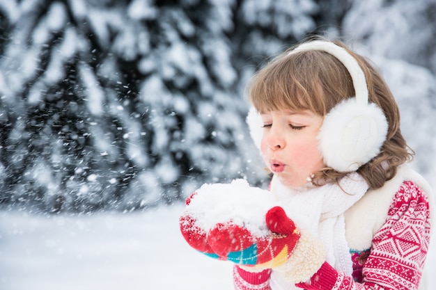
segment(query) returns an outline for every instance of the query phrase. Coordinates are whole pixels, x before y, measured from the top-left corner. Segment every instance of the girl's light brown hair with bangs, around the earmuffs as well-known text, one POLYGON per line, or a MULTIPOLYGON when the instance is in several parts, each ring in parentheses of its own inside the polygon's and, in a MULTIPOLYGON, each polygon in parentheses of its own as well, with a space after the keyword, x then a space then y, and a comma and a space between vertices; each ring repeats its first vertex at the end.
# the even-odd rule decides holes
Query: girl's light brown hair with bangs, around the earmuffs
MULTIPOLYGON (((396 175, 398 166, 413 159, 414 152, 401 134, 398 106, 380 73, 343 42, 334 43, 356 58, 366 76, 369 102, 377 104, 387 118, 389 128, 380 154, 357 170, 371 189, 380 188, 396 175)), ((325 116, 343 99, 355 96, 351 76, 337 58, 323 51, 295 54, 288 51, 274 58, 251 79, 247 92, 257 111, 309 110, 325 116)), ((316 185, 337 182, 346 174, 323 168, 313 172, 312 182, 316 185)))

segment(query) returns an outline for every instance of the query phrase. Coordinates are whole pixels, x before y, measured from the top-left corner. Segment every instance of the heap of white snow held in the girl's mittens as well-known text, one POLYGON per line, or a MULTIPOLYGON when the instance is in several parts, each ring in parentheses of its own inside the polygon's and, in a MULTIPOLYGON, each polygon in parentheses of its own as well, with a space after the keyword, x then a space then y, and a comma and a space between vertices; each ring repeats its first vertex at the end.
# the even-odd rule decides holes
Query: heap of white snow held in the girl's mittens
POLYGON ((270 232, 265 214, 277 205, 270 191, 251 187, 244 179, 235 179, 230 184, 203 184, 188 203, 183 215, 194 218, 205 232, 217 223, 232 221, 255 236, 270 232))

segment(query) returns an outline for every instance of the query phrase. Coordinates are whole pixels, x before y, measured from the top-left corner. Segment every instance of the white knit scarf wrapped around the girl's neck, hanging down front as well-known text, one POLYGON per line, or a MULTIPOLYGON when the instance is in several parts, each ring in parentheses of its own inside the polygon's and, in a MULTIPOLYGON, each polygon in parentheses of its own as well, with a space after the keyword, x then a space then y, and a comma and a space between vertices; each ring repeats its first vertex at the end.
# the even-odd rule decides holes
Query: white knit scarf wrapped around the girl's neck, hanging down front
MULTIPOLYGON (((327 261, 337 271, 352 273, 350 248, 345 240, 344 213, 368 190, 368 184, 356 172, 343 177, 339 184, 289 188, 273 177, 271 191, 297 227, 309 230, 325 244, 327 261)), ((295 289, 273 271, 272 289, 295 289)))

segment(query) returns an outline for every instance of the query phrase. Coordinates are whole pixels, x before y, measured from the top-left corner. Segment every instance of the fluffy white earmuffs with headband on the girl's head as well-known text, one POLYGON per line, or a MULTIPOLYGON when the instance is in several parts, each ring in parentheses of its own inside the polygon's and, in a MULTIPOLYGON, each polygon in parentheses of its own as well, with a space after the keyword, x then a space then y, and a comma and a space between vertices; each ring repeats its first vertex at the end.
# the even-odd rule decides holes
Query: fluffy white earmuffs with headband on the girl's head
MULTIPOLYGON (((348 51, 332 42, 315 40, 299 45, 289 54, 309 50, 325 51, 336 57, 352 78, 356 95, 337 104, 325 115, 318 147, 326 166, 338 172, 355 171, 380 153, 387 136, 386 116, 377 105, 368 102, 365 74, 348 51)), ((250 110, 247 123, 254 143, 260 148, 262 120, 254 108, 250 110)))

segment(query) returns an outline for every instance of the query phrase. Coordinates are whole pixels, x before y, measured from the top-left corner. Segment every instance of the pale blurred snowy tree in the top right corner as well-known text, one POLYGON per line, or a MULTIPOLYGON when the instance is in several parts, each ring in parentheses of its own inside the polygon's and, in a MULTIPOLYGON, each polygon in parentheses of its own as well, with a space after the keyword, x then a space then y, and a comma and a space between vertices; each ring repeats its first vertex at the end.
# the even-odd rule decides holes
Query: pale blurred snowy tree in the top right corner
POLYGON ((342 26, 345 35, 363 40, 372 54, 427 67, 436 74, 435 0, 350 1, 342 26))

